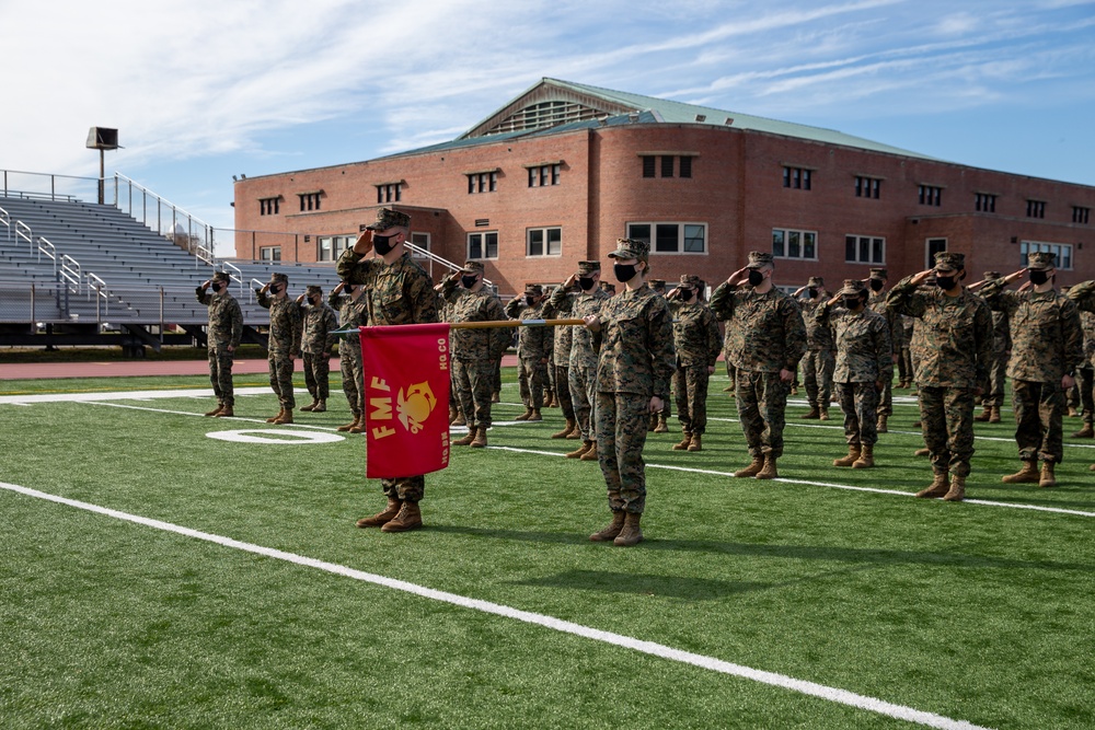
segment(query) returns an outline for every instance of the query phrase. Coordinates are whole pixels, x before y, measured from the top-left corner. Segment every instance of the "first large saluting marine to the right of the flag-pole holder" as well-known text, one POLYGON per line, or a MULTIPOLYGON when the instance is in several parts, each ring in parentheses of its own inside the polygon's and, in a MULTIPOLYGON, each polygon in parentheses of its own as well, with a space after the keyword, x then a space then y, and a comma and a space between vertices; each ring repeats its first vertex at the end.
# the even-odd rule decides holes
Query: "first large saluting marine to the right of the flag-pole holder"
POLYGON ((711 310, 730 333, 729 358, 737 370, 738 417, 752 463, 735 476, 772 479, 783 455, 787 390, 806 352, 806 325, 795 301, 772 283, 772 254, 749 252, 711 297, 711 310), (739 288, 746 280, 751 286, 739 288))

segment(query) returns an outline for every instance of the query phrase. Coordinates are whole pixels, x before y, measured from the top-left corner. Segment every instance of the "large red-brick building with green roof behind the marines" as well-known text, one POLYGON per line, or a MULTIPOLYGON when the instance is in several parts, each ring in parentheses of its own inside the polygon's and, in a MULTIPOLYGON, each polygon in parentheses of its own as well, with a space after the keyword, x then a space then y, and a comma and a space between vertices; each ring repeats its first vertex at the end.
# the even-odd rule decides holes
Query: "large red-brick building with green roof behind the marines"
POLYGON ((891 282, 931 254, 970 275, 1084 256, 1095 187, 970 167, 838 131, 543 79, 460 138, 367 162, 235 184, 237 256, 334 260, 378 207, 452 262, 483 259, 503 294, 558 282, 615 239, 650 240, 653 275, 717 283, 750 250, 779 285, 830 288, 872 266, 891 282))

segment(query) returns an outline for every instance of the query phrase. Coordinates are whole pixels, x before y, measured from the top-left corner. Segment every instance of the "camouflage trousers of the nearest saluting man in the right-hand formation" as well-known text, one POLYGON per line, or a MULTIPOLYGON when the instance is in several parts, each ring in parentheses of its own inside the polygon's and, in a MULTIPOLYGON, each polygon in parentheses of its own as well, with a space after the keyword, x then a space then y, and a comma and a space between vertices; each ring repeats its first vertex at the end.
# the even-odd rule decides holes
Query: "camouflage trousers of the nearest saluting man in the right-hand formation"
POLYGON ((920 386, 920 421, 936 474, 969 476, 976 398, 972 387, 920 386))

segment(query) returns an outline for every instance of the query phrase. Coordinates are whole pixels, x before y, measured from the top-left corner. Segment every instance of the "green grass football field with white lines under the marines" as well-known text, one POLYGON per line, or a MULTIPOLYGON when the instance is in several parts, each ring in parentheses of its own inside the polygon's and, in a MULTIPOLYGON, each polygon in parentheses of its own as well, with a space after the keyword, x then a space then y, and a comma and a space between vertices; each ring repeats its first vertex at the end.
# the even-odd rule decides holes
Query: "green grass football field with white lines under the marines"
POLYGON ((704 451, 650 434, 625 549, 512 378, 408 534, 354 526, 383 506, 361 437, 308 437, 349 421, 337 381, 281 427, 257 376, 234 419, 201 378, 0 383, 0 727, 1095 727, 1091 440, 1005 485, 1014 427, 978 424, 969 501, 918 500, 907 392, 874 470, 793 398, 782 478, 735 479, 715 378, 704 451))

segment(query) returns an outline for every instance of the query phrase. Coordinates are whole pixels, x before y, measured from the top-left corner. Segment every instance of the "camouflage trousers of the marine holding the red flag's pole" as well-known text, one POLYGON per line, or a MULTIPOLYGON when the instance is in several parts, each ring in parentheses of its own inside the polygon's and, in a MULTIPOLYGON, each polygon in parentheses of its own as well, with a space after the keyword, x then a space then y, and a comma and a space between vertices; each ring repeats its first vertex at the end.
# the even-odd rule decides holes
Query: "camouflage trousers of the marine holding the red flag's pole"
POLYGON ((646 422, 650 397, 597 394, 597 461, 609 491, 609 509, 642 514, 646 508, 646 422))

